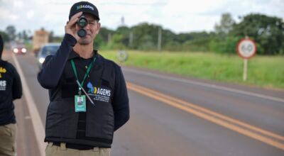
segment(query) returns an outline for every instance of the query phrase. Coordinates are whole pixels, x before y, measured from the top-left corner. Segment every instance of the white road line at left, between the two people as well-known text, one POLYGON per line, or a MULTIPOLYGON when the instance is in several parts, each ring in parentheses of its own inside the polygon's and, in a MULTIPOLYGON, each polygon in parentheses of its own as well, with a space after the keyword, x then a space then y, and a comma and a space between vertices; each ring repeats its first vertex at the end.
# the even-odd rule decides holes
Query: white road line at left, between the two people
POLYGON ((28 111, 31 115, 31 121, 33 123, 33 130, 35 132, 35 138, 38 142, 38 147, 40 151, 40 156, 45 155, 45 147, 46 143, 44 143, 45 138, 45 130, 43 127, 43 122, 40 120, 40 114, 38 113, 38 109, 35 106, 35 101, 33 100, 33 96, 31 96, 31 91, 28 88, 28 84, 26 83, 26 78, 23 75, 23 70, 21 69, 18 60, 15 55, 12 53, 13 61, 15 62, 16 69, 18 70, 18 74, 20 74, 21 82, 23 86, 23 95, 26 99, 26 104, 28 105, 28 111))

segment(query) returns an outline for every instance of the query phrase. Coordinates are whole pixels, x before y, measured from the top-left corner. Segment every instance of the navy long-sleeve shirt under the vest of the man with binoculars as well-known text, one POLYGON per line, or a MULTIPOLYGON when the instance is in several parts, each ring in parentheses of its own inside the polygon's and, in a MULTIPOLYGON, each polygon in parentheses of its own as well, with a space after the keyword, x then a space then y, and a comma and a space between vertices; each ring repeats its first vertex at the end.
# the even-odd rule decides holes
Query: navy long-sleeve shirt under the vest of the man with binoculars
MULTIPOLYGON (((50 55, 45 58, 43 67, 38 73, 38 82, 42 87, 45 89, 54 89, 58 86, 65 64, 70 54, 72 54, 72 52, 74 53, 72 48, 76 43, 77 40, 72 35, 65 34, 58 52, 56 52, 55 55, 50 55)), ((83 64, 88 64, 89 62, 90 60, 88 59, 82 59, 83 64)), ((114 130, 117 130, 129 120, 129 99, 127 95, 126 82, 119 66, 117 66, 115 72, 116 79, 112 106, 114 109, 114 130)))

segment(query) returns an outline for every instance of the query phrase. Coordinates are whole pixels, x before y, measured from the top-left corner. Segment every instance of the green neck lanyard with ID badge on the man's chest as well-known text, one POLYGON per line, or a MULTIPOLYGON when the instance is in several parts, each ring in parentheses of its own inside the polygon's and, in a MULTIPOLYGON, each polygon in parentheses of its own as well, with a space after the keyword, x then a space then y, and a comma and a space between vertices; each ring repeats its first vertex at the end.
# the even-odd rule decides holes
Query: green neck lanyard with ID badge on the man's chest
MULTIPOLYGON (((96 60, 96 57, 94 57, 93 61, 90 63, 89 67, 87 68, 87 71, 85 72, 84 78, 83 78, 83 80, 81 82, 81 86, 78 84, 78 87, 79 87, 78 94, 79 95, 75 95, 75 112, 86 111, 86 96, 82 95, 81 87, 84 87, 83 86, 84 85, 84 80, 87 78, 89 72, 91 71, 91 69, 92 69, 92 67, 94 65, 95 60, 96 60)), ((76 69, 74 60, 71 60, 71 64, 72 64, 72 69, 73 69, 73 72, 74 72, 74 74, 76 76, 77 82, 80 82, 79 78, 78 78, 78 75, 77 75, 77 69, 76 69)))

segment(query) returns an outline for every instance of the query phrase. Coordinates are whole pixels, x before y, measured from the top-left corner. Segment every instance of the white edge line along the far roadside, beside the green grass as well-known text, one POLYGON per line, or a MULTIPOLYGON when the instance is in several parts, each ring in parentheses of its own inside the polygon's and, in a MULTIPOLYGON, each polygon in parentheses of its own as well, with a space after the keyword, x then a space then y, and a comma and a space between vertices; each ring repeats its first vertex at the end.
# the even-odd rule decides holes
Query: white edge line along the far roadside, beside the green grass
POLYGON ((273 100, 273 101, 278 101, 278 102, 283 102, 284 103, 284 99, 280 99, 278 97, 274 97, 274 96, 268 96, 268 95, 263 95, 263 94, 257 94, 257 93, 253 93, 253 92, 249 92, 249 91, 242 91, 239 89, 231 89, 228 87, 221 87, 221 86, 217 86, 216 84, 207 84, 204 82, 195 82, 189 79, 180 79, 180 78, 176 78, 176 77, 168 77, 168 76, 163 76, 160 74, 153 74, 150 72, 141 72, 141 71, 137 71, 135 69, 126 69, 124 68, 125 71, 127 72, 133 72, 136 74, 145 74, 151 77, 157 77, 159 79, 168 79, 168 80, 172 80, 172 81, 176 81, 176 82, 183 82, 183 83, 187 83, 187 84, 195 84, 198 86, 202 86, 202 87, 209 87, 209 88, 213 88, 213 89, 220 89, 223 91, 231 91, 234 93, 238 93, 238 94, 245 94, 245 95, 249 95, 249 96, 256 96, 262 99, 268 99, 268 100, 273 100))

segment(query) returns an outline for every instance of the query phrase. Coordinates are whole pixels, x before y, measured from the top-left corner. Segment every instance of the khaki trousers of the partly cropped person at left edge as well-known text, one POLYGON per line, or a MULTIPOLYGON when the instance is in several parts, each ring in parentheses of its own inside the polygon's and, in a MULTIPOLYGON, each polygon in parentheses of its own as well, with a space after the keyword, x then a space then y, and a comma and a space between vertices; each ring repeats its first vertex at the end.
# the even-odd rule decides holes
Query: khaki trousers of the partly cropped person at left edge
POLYGON ((16 128, 14 123, 0 126, 0 155, 16 155, 16 128))

